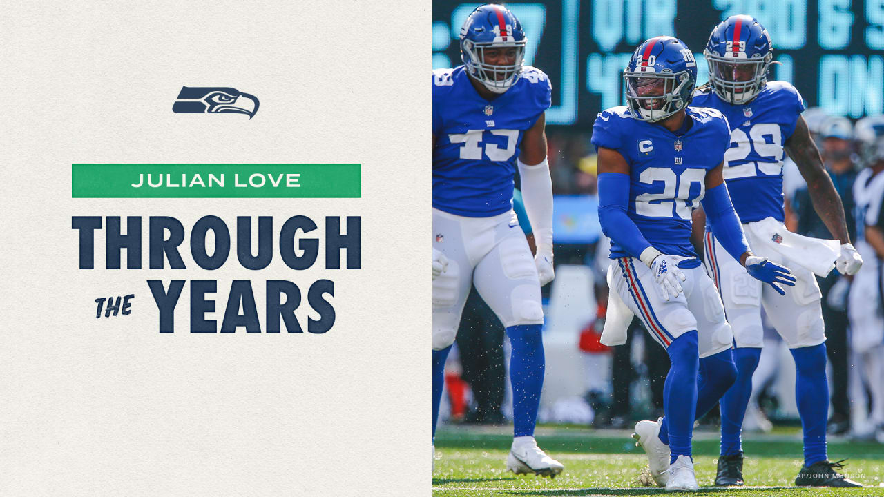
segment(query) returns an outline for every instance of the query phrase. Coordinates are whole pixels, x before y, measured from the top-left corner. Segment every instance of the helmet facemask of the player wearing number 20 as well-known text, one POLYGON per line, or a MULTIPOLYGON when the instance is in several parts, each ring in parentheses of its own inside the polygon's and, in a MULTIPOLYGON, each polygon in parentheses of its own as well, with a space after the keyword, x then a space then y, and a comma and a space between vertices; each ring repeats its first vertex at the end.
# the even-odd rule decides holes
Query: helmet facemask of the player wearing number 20
POLYGON ((682 94, 685 85, 690 84, 689 73, 654 73, 651 67, 641 69, 643 71, 623 72, 626 99, 633 117, 656 122, 688 106, 682 94))

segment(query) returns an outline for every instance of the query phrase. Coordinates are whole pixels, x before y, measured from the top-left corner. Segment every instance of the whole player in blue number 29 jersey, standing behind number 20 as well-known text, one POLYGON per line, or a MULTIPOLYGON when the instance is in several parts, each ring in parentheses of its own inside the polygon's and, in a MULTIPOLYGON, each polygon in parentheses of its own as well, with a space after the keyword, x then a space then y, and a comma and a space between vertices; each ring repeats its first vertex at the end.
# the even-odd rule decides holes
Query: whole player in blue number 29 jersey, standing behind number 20
MULTIPOLYGON (((753 251, 788 265, 796 288, 786 298, 746 278, 743 268, 720 257, 724 245, 705 234, 705 263, 713 275, 734 332, 737 377, 720 402, 721 455, 716 484, 743 485, 740 432, 761 354, 761 305, 796 364, 796 401, 804 429, 799 486, 858 486, 827 460, 826 336, 814 272, 833 267, 854 274, 863 264, 850 244, 841 199, 801 117, 804 100, 784 81, 767 81, 773 60, 770 34, 751 16, 731 16, 713 29, 704 51, 709 84, 697 88, 694 105, 721 111, 731 129, 724 179, 753 251), (783 226, 783 151, 807 182, 814 210, 838 241, 789 233, 783 226)), ((708 216, 708 212, 706 213, 708 216)))

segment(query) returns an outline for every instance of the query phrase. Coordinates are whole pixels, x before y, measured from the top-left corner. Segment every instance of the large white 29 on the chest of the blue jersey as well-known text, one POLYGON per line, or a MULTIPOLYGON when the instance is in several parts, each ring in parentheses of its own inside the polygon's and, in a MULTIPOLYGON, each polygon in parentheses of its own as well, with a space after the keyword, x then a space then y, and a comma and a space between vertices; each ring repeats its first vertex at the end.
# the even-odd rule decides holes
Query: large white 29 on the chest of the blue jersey
POLYGON ((767 175, 780 174, 782 171, 782 132, 779 125, 773 123, 758 123, 749 129, 746 134, 742 129, 735 128, 730 132, 731 148, 724 154, 724 178, 749 178, 756 176, 755 165, 767 175), (769 157, 771 161, 747 162, 745 164, 730 165, 733 162, 742 161, 752 150, 760 157, 769 157))

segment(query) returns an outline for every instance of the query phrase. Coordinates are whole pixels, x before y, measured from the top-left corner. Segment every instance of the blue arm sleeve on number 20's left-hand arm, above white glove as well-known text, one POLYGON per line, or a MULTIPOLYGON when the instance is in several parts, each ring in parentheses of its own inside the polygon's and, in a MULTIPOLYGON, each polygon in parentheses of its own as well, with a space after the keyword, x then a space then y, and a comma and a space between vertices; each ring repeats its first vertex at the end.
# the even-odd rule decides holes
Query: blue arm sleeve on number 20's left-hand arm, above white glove
MULTIPOLYGON (((631 256, 641 258, 651 244, 626 213, 629 207, 629 175, 602 172, 598 175, 598 221, 602 233, 625 248, 631 256)), ((647 264, 647 263, 645 263, 647 264)))

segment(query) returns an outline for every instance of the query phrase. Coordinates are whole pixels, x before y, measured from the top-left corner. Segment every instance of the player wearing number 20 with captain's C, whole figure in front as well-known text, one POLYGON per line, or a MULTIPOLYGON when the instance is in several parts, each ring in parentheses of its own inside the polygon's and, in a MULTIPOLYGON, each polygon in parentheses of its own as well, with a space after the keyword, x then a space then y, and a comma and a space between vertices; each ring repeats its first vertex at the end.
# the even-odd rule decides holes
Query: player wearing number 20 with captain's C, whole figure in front
POLYGON ((636 438, 652 476, 667 490, 697 490, 691 459, 694 419, 733 383, 730 326, 712 279, 690 243, 691 210, 703 203, 735 264, 779 292, 789 270, 753 256, 721 178, 728 120, 688 107, 697 82, 691 51, 658 36, 633 53, 626 71, 629 106, 598 114, 598 217, 611 239, 611 294, 625 302, 672 363, 666 416, 640 422, 636 438), (699 375, 699 376, 698 376, 699 375))

